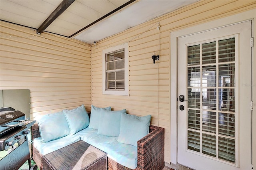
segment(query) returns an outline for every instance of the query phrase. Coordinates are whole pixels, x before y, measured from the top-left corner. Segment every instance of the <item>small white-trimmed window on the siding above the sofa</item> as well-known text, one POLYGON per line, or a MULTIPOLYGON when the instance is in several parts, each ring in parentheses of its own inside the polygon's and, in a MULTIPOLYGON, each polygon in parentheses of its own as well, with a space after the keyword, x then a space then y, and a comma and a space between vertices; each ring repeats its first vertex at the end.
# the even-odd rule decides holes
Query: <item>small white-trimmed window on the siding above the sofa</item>
POLYGON ((125 43, 102 51, 102 93, 129 94, 129 44, 125 43))

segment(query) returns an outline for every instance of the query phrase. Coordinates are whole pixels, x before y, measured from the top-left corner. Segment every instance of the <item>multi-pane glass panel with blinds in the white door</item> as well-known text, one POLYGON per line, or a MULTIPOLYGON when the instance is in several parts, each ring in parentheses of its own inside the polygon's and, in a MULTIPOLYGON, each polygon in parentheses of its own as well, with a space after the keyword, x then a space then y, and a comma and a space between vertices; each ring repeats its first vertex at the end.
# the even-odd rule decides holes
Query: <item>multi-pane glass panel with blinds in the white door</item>
POLYGON ((187 47, 187 149, 235 162, 235 38, 187 47))

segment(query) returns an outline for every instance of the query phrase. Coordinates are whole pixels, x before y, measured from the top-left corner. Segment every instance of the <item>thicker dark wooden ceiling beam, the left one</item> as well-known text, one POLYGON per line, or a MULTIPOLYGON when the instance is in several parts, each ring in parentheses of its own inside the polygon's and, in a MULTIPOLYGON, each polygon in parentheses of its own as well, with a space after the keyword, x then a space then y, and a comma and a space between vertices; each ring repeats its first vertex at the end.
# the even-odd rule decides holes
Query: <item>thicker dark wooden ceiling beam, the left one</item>
POLYGON ((60 5, 50 14, 50 16, 36 30, 37 34, 41 34, 62 12, 64 12, 75 0, 63 0, 60 5))

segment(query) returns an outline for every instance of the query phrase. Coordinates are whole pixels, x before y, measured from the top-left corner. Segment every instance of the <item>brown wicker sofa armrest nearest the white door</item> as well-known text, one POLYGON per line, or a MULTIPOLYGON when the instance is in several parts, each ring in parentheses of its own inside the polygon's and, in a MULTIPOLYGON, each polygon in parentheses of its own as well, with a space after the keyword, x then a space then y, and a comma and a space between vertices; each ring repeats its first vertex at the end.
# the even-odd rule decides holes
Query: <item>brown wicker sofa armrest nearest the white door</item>
POLYGON ((137 170, 164 168, 164 128, 150 125, 150 132, 138 140, 137 170))

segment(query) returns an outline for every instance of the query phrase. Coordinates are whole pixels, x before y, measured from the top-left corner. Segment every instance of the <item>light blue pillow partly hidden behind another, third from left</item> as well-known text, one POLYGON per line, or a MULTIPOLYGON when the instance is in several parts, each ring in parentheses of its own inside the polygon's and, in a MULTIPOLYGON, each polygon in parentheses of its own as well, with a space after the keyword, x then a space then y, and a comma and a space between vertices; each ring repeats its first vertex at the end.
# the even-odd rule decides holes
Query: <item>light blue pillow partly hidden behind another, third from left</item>
MULTIPOLYGON (((89 128, 94 128, 94 129, 99 128, 100 109, 101 109, 100 107, 95 107, 94 105, 92 105, 89 128)), ((106 110, 110 111, 111 107, 109 106, 109 107, 106 107, 106 108, 103 108, 103 109, 106 109, 106 110)))

